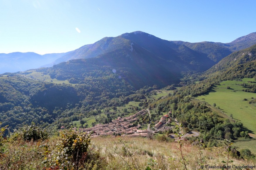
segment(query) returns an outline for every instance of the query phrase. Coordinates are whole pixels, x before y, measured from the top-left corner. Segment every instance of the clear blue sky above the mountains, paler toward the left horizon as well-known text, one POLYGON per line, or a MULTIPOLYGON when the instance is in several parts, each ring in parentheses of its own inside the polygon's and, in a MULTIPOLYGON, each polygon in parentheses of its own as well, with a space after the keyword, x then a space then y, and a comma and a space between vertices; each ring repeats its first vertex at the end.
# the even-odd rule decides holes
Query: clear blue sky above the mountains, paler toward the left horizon
POLYGON ((0 53, 67 52, 133 31, 227 43, 256 32, 255 6, 255 0, 0 0, 0 53))

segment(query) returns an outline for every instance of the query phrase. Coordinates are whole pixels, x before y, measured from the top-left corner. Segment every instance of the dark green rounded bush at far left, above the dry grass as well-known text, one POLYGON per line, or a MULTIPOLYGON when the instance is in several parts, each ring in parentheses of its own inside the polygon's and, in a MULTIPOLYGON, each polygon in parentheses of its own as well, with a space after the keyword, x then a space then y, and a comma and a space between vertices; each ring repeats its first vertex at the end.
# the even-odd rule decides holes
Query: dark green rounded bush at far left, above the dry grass
POLYGON ((9 139, 18 140, 22 139, 24 141, 37 141, 39 139, 45 140, 48 138, 48 132, 46 129, 43 129, 34 122, 31 125, 24 125, 20 127, 18 130, 14 129, 14 132, 10 134, 9 139))

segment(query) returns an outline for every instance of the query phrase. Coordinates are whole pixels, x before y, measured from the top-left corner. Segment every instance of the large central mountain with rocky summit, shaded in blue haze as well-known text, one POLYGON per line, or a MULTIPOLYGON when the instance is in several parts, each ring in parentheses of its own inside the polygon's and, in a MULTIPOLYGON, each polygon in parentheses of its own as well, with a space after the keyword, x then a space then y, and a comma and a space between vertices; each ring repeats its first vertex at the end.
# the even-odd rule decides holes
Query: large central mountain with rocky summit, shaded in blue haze
POLYGON ((107 67, 115 69, 120 79, 136 89, 145 85, 164 87, 178 83, 182 72, 205 71, 215 64, 201 52, 141 31, 105 37, 61 59, 69 61, 37 71, 58 80, 81 84, 88 77, 104 79, 102 70, 107 67))

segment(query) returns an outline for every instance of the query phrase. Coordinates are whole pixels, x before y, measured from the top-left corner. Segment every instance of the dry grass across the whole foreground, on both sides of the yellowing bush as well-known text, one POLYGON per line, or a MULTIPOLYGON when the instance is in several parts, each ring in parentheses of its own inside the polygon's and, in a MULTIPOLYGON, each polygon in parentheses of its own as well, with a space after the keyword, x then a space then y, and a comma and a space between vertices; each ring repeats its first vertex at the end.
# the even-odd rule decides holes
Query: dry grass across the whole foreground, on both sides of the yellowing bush
MULTIPOLYGON (((41 170, 45 168, 42 164, 44 158, 41 153, 44 151, 40 145, 48 143, 52 149, 56 147, 59 137, 51 137, 45 141, 7 142, 5 153, 0 154, 1 170, 41 170)), ((97 160, 93 166, 87 169, 141 169, 150 167, 152 170, 184 169, 182 157, 177 142, 160 142, 148 138, 110 138, 98 137, 91 140, 91 153, 98 153, 97 160)), ((201 149, 184 142, 182 153, 186 159, 187 169, 201 169, 202 165, 222 166, 227 162, 227 150, 224 147, 201 149), (201 154, 201 157, 200 157, 201 154)), ((233 160, 229 165, 243 166, 256 164, 252 160, 242 160, 230 157, 233 160)), ((236 169, 236 168, 231 168, 236 169)))

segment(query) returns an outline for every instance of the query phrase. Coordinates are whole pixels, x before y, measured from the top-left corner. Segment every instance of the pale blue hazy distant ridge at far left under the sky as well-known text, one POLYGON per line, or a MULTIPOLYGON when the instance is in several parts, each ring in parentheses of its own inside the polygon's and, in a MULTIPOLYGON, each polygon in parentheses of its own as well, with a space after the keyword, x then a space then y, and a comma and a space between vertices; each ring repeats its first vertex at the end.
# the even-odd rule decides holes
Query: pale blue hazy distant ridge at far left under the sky
MULTIPOLYGON (((67 53, 53 53, 39 55, 34 52, 12 52, 9 54, 0 54, 0 74, 6 72, 25 71, 28 69, 36 69, 45 64, 54 62, 59 57, 67 53)), ((49 65, 52 66, 52 65, 49 65)))

